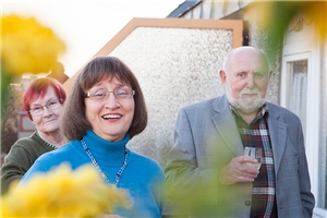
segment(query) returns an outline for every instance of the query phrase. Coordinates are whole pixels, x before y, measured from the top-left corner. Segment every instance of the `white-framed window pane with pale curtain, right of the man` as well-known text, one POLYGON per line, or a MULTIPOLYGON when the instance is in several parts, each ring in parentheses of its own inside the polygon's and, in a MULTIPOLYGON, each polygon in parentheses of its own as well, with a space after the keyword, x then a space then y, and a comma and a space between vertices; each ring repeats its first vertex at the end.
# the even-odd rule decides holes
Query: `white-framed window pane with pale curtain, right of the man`
POLYGON ((289 77, 288 108, 300 117, 305 135, 306 129, 306 98, 307 98, 307 60, 287 63, 289 77))

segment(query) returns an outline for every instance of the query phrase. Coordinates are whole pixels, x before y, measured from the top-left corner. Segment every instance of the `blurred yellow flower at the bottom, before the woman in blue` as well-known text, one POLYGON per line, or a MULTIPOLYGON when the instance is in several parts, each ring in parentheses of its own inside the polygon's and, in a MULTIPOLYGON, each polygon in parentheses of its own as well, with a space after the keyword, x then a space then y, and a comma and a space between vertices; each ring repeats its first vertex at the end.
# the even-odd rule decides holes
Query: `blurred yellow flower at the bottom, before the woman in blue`
POLYGON ((95 217, 132 207, 128 191, 105 183, 92 165, 72 171, 62 164, 12 185, 1 201, 2 217, 95 217))

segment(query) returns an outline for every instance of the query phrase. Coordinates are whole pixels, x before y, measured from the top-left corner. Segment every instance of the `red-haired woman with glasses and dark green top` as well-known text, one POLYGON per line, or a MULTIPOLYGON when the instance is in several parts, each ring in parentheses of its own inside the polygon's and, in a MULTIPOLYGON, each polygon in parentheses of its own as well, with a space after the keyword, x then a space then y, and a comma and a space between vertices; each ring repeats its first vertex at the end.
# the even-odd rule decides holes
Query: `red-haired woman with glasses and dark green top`
POLYGON ((5 156, 1 168, 1 194, 8 191, 14 180, 21 180, 39 156, 68 143, 59 129, 65 98, 61 83, 55 78, 37 78, 27 87, 23 108, 36 131, 29 137, 16 141, 5 156))

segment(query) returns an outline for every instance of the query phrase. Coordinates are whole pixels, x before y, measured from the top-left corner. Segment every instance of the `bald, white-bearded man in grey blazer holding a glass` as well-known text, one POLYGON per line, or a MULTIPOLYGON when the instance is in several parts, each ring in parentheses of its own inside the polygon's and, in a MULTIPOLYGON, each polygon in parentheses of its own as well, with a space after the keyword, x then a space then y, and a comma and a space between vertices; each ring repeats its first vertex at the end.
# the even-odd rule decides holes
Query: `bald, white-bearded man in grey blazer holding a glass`
POLYGON ((219 73, 225 95, 179 112, 165 169, 168 198, 193 217, 312 217, 301 122, 265 101, 265 53, 237 48, 219 73), (262 148, 259 169, 244 147, 262 148))

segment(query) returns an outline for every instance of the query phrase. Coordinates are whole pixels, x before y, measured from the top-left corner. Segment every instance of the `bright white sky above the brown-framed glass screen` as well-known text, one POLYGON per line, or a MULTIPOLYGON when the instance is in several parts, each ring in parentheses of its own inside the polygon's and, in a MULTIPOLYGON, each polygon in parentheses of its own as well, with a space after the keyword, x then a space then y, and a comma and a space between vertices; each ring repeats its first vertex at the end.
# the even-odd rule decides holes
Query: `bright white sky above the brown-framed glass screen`
POLYGON ((1 0, 2 15, 34 16, 65 44, 59 57, 73 76, 133 17, 165 19, 185 0, 1 0))

